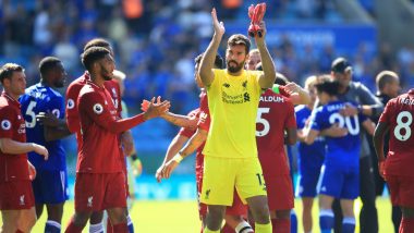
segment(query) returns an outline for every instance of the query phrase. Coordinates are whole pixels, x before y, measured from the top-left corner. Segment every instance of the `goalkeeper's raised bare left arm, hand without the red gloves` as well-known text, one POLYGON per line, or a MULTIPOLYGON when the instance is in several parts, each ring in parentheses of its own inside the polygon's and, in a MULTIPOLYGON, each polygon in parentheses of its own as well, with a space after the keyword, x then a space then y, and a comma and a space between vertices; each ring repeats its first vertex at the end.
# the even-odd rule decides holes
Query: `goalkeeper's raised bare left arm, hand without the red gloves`
POLYGON ((212 69, 215 65, 217 50, 226 32, 224 24, 217 20, 216 9, 212 9, 211 11, 211 20, 215 34, 212 35, 212 39, 208 45, 207 50, 204 52, 198 71, 203 84, 207 87, 210 86, 215 79, 215 73, 212 72, 212 69))

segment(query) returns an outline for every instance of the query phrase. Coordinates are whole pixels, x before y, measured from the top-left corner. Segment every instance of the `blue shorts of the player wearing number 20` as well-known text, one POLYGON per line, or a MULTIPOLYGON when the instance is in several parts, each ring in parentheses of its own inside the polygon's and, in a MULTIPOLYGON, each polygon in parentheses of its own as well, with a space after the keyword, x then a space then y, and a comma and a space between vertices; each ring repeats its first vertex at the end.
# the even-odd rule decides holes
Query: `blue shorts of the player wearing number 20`
POLYGON ((339 199, 356 199, 360 196, 360 168, 324 164, 318 193, 339 199))

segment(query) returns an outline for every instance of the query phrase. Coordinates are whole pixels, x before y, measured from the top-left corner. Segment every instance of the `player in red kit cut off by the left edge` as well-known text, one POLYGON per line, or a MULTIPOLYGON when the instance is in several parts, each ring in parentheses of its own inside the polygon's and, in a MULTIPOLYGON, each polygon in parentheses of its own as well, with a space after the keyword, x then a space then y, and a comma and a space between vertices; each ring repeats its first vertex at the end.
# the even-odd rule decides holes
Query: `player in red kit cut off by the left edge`
POLYGON ((19 64, 7 63, 0 70, 4 90, 0 96, 0 232, 29 232, 36 223, 32 181, 35 168, 27 152, 35 151, 48 159, 48 150, 26 143, 26 126, 19 96, 26 88, 26 75, 19 64))

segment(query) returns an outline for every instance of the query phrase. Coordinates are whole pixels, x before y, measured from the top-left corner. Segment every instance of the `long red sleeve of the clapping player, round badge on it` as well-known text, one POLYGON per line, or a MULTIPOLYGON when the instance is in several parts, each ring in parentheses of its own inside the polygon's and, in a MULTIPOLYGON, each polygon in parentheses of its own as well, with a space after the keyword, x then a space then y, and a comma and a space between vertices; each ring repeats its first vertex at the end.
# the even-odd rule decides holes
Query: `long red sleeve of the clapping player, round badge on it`
POLYGON ((87 93, 80 97, 80 111, 85 111, 102 128, 119 134, 144 122, 144 113, 132 118, 115 120, 105 105, 105 99, 97 93, 87 93))

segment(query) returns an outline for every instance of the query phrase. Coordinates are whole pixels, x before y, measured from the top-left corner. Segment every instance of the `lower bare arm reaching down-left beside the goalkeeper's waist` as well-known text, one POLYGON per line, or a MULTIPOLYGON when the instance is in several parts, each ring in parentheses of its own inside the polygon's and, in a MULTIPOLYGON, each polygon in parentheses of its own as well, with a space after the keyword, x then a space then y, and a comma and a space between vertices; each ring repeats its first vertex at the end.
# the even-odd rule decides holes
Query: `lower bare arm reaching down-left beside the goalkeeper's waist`
POLYGON ((207 139, 208 132, 202 128, 197 128, 195 134, 190 138, 184 148, 180 150, 169 162, 167 162, 162 176, 169 179, 172 171, 180 164, 180 162, 191 154, 193 154, 199 146, 207 139))

